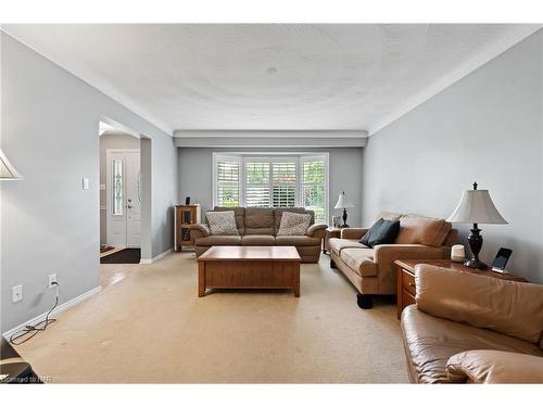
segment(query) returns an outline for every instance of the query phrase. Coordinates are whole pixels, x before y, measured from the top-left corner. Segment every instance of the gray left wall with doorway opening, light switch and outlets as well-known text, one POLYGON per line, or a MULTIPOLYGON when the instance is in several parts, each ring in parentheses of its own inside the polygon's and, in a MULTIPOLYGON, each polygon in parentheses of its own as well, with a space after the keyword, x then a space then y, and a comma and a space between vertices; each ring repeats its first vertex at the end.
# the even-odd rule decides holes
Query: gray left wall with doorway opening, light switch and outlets
POLYGON ((173 246, 177 196, 172 137, 97 89, 1 36, 1 148, 25 177, 1 182, 1 331, 53 303, 47 276, 56 272, 61 303, 99 285, 99 137, 102 116, 151 139, 152 253, 173 246), (81 189, 81 178, 90 189, 81 189), (22 302, 11 288, 23 284, 22 302))

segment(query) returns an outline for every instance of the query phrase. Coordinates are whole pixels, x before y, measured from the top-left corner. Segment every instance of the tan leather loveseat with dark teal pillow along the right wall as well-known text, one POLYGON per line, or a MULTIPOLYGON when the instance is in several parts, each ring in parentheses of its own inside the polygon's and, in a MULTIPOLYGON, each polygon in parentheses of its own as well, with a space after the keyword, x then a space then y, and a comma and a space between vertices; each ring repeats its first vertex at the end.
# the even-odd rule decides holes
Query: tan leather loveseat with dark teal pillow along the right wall
POLYGON ((400 220, 394 244, 370 249, 358 243, 366 228, 348 228, 329 240, 330 267, 339 268, 358 290, 361 308, 371 308, 374 295, 395 294, 394 260, 399 258, 449 258, 458 232, 444 219, 415 214, 382 212, 377 219, 400 220))

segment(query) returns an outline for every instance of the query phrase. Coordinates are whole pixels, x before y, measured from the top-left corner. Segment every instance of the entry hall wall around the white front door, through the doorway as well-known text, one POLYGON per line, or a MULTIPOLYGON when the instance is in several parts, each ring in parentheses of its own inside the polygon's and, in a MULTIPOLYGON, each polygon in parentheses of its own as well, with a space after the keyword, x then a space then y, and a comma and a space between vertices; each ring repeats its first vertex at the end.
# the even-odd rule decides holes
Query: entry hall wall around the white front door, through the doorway
MULTIPOLYGON (((140 139, 124 133, 108 133, 100 136, 100 183, 106 183, 108 163, 105 153, 110 149, 139 149, 140 139)), ((106 191, 100 190, 100 244, 106 241, 106 211, 105 211, 106 191)))

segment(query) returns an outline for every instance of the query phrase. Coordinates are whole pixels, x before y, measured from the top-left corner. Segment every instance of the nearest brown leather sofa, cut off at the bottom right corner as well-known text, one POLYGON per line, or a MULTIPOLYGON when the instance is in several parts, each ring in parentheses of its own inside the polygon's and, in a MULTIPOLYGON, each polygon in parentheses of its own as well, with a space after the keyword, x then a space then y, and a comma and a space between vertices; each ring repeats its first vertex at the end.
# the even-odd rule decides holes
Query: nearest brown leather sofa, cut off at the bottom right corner
POLYGON ((413 383, 543 383, 543 285, 418 265, 402 313, 413 383))

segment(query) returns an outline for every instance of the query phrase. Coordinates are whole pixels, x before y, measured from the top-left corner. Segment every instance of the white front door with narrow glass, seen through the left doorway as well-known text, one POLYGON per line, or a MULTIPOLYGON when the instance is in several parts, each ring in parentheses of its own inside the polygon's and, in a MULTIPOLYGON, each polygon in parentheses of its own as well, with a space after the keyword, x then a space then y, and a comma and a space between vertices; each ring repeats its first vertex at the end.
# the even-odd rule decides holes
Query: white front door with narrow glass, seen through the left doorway
POLYGON ((139 150, 106 151, 106 239, 115 247, 140 246, 139 150))

